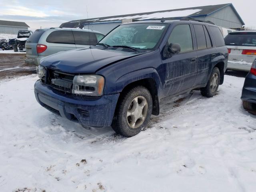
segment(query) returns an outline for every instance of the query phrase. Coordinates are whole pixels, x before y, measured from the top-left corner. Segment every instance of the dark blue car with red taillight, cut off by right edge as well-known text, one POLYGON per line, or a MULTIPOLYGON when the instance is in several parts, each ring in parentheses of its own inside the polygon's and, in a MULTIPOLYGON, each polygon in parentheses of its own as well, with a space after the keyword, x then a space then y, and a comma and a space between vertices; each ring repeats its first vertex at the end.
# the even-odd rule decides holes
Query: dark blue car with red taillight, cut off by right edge
POLYGON ((246 110, 256 113, 256 59, 245 78, 241 99, 246 110))

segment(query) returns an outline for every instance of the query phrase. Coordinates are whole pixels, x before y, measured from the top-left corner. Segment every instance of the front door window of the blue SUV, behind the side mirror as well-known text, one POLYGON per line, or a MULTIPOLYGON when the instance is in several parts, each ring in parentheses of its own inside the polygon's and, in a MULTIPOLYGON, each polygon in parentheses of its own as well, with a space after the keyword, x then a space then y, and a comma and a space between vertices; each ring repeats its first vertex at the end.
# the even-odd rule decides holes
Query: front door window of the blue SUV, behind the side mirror
POLYGON ((193 42, 190 26, 187 24, 176 26, 168 39, 168 44, 171 43, 180 44, 180 52, 192 51, 193 42))

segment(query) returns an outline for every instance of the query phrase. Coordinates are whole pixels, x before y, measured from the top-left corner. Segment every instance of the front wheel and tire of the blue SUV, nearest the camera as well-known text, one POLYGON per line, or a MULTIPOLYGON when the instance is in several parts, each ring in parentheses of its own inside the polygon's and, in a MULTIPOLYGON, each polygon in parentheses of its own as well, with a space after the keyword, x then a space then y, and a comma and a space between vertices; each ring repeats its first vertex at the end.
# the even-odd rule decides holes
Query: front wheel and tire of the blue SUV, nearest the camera
POLYGON ((137 86, 120 96, 112 121, 113 130, 132 137, 146 128, 152 114, 152 96, 144 86, 137 86), (136 102, 137 100, 137 102, 136 102), (136 120, 136 118, 138 120, 136 120))

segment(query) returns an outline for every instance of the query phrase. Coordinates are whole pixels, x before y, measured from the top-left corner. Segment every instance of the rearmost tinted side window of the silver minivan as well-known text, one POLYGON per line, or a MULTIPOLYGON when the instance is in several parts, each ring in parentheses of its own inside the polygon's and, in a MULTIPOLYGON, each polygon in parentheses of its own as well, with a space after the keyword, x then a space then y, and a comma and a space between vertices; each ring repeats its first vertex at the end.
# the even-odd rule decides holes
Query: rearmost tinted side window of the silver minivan
POLYGON ((46 38, 48 43, 63 43, 63 44, 74 44, 74 36, 72 31, 68 30, 58 30, 51 32, 46 38))

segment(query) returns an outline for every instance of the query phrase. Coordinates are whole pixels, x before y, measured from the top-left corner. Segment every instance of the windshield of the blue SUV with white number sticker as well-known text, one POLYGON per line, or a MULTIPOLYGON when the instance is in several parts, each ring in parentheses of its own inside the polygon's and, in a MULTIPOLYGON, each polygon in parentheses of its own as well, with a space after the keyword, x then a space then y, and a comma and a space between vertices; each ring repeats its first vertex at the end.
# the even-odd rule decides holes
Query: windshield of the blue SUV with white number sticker
POLYGON ((166 28, 167 24, 158 23, 120 25, 100 43, 109 46, 130 46, 136 49, 154 50, 166 28))

